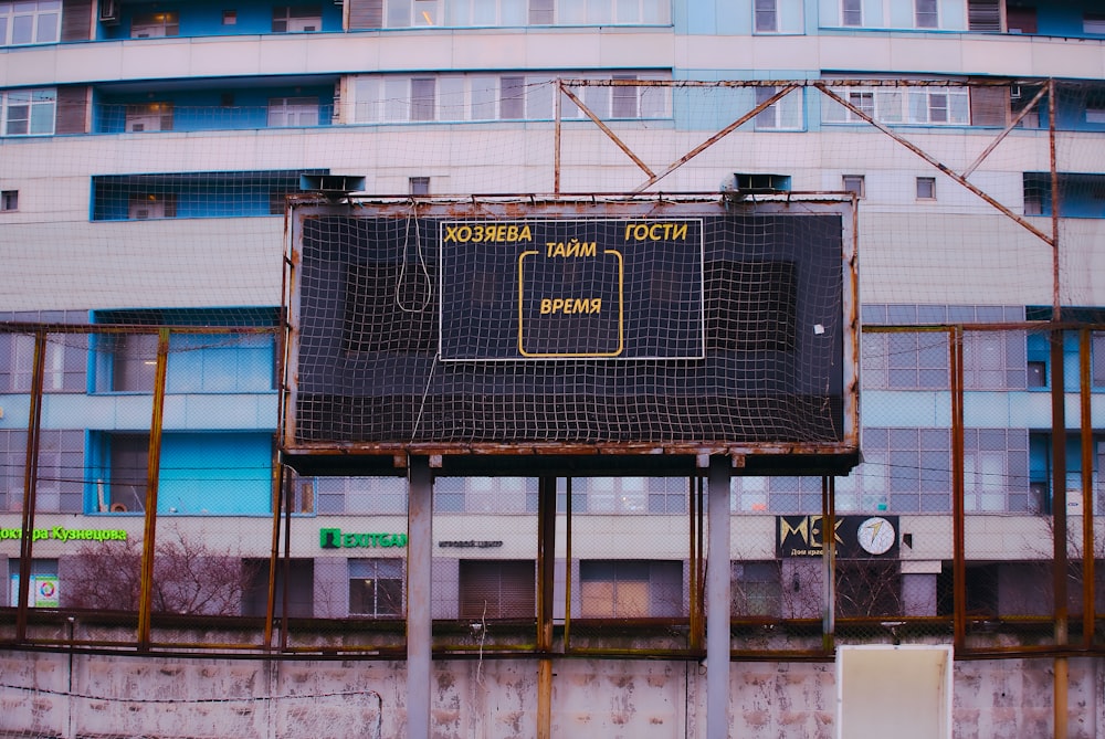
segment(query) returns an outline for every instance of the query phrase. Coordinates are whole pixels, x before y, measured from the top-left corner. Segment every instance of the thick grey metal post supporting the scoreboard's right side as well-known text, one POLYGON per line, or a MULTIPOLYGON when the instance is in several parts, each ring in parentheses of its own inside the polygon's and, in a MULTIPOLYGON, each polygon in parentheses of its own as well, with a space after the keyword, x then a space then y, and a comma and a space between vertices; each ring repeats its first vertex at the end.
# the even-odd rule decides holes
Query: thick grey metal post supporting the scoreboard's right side
POLYGON ((706 478, 706 738, 729 736, 729 457, 709 457, 706 478))

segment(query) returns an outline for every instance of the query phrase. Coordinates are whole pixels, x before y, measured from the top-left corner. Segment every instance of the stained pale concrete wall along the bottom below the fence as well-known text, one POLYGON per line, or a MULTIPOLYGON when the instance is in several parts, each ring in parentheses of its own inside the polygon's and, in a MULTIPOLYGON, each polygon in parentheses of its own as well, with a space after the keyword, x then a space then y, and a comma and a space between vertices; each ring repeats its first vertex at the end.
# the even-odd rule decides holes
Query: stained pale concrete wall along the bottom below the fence
MULTIPOLYGON (((955 663, 954 736, 1053 736, 1053 667, 1051 658, 955 663)), ((1101 658, 1070 661, 1072 739, 1092 739, 1105 726, 1103 672, 1101 658)), ((560 659, 554 665, 552 736, 705 737, 705 673, 695 662, 560 659)), ((734 663, 729 736, 832 739, 834 675, 828 663, 734 663)), ((404 682, 401 662, 8 651, 0 652, 0 735, 402 737, 404 682)), ((533 659, 434 663, 436 738, 532 739, 536 712, 533 659)))

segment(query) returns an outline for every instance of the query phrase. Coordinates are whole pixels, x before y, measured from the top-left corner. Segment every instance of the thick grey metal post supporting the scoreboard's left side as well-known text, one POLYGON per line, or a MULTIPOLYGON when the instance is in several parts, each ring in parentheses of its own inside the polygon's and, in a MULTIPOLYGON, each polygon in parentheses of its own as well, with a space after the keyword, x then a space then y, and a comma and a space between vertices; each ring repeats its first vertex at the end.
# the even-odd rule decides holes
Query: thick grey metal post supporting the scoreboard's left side
POLYGON ((433 476, 427 457, 411 457, 407 507, 407 737, 430 739, 433 476))

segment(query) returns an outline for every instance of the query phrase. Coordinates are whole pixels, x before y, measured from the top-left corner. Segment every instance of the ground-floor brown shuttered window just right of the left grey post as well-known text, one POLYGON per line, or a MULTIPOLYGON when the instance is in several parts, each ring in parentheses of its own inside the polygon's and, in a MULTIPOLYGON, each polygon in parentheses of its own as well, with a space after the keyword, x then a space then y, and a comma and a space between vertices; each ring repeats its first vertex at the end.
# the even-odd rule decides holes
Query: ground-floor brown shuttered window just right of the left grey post
POLYGON ((461 619, 537 616, 537 567, 533 560, 460 561, 461 619))

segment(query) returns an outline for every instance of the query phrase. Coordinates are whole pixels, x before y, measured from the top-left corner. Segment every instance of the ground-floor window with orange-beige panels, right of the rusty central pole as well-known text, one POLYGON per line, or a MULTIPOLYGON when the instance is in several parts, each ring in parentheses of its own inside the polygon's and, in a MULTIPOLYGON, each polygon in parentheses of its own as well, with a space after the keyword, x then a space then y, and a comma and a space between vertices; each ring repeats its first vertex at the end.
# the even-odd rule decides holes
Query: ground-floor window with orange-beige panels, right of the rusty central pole
POLYGON ((580 617, 645 619, 683 615, 683 563, 583 560, 580 617))

